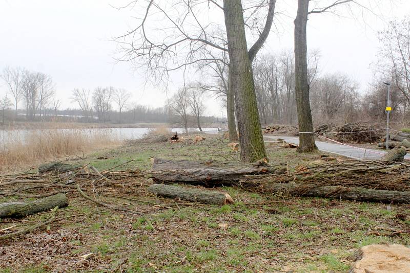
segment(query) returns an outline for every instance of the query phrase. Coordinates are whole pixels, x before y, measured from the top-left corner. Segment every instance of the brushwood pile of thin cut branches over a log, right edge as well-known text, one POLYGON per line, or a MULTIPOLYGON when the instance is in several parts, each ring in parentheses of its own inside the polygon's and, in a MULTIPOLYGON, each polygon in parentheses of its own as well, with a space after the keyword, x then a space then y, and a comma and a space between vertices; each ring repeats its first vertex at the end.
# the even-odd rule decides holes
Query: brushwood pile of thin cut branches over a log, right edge
POLYGON ((323 162, 296 172, 259 175, 239 181, 242 188, 360 201, 410 202, 410 164, 392 161, 323 162))

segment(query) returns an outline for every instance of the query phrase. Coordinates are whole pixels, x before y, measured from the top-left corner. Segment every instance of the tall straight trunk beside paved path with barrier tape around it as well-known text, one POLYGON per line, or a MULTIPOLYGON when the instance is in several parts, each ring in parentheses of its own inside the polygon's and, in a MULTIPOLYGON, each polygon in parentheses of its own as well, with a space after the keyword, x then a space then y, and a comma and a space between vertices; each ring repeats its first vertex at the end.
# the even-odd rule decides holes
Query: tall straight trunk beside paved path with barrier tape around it
POLYGON ((298 152, 317 150, 312 112, 309 101, 308 46, 306 42, 306 24, 308 23, 309 0, 299 0, 295 19, 295 95, 299 120, 298 152))

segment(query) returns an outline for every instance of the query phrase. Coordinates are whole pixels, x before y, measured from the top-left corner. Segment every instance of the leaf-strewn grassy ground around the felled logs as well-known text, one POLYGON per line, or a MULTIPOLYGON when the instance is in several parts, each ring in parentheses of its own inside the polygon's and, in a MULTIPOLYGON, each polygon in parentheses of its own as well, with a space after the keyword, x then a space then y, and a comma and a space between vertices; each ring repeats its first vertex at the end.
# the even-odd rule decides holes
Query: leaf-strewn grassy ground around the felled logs
MULTIPOLYGON (((150 157, 234 160, 237 155, 226 143, 210 138, 198 145, 133 143, 91 154, 83 162, 104 170, 131 159, 134 161, 119 169, 147 169, 150 157), (106 159, 96 159, 101 156, 106 159)), ((288 163, 290 169, 318 157, 299 157, 295 150, 272 146, 268 152, 271 161, 288 163)), ((233 206, 176 204, 141 194, 139 189, 128 195, 139 201, 103 198, 142 208, 146 212, 143 217, 105 211, 70 195, 73 201, 66 214, 81 216, 53 225, 50 234, 36 231, 25 239, 0 245, 0 253, 18 253, 13 261, 0 255, 0 265, 8 264, 2 267, 3 272, 46 272, 52 268, 105 272, 119 268, 127 258, 121 265, 127 272, 346 272, 352 263, 345 258, 357 247, 385 242, 410 244, 407 233, 375 231, 378 225, 408 230, 410 222, 395 218, 396 213, 408 213, 407 205, 392 205, 387 210, 384 204, 223 190, 236 201, 233 206), (91 258, 79 261, 81 255, 89 253, 94 253, 91 258)), ((44 216, 27 220, 40 217, 44 216)), ((0 230, 11 223, 6 220, 0 230)))

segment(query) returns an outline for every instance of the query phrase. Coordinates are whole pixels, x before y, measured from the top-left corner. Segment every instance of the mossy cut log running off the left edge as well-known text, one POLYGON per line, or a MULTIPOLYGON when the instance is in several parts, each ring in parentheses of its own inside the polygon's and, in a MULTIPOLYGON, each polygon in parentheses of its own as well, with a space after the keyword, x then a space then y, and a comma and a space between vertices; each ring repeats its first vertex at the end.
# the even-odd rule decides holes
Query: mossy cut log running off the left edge
POLYGON ((68 205, 65 194, 59 193, 46 198, 29 202, 8 202, 0 204, 0 218, 25 217, 38 212, 48 211, 55 207, 63 208, 68 205))

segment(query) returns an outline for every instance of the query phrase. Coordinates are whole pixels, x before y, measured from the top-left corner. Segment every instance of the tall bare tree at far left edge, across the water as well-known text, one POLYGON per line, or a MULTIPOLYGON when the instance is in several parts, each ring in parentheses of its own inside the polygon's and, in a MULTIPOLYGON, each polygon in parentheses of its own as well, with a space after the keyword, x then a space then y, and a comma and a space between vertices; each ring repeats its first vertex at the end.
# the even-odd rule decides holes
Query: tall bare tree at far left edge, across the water
POLYGON ((18 102, 22 96, 22 82, 24 76, 24 69, 21 67, 11 68, 5 67, 1 78, 8 87, 8 92, 13 96, 15 106, 15 116, 17 116, 18 102))

